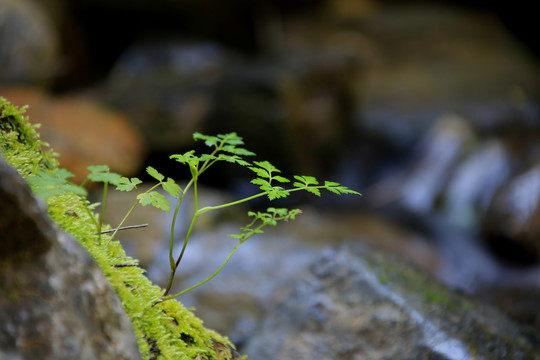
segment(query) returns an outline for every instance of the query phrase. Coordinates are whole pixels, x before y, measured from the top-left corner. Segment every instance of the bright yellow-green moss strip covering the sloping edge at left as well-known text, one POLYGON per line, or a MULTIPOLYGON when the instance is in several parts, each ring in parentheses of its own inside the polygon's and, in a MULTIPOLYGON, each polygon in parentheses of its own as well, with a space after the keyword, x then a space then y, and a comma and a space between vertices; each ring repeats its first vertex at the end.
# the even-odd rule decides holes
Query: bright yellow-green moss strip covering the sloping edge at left
MULTIPOLYGON (((56 154, 40 140, 39 125, 24 116, 26 107, 13 106, 0 97, 0 153, 25 178, 39 171, 59 167, 56 154)), ((138 261, 126 255, 118 241, 101 239, 88 215, 90 202, 76 194, 54 196, 47 200, 49 216, 71 234, 95 259, 117 292, 131 319, 144 359, 238 358, 230 341, 203 326, 202 320, 178 301, 152 306, 163 290, 152 284, 138 267, 138 261)))

